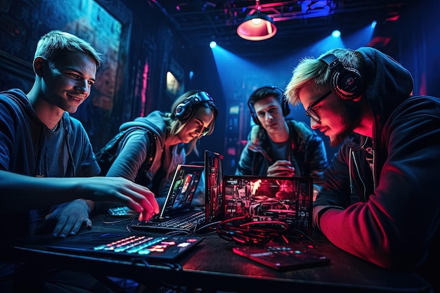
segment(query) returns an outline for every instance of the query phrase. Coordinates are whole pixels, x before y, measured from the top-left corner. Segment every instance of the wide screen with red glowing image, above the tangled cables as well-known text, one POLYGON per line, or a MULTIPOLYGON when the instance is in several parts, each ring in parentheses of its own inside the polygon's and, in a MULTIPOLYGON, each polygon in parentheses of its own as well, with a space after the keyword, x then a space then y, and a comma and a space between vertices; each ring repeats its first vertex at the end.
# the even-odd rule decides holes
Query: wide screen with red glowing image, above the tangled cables
POLYGON ((312 235, 312 178, 224 176, 223 184, 225 219, 283 221, 312 235))

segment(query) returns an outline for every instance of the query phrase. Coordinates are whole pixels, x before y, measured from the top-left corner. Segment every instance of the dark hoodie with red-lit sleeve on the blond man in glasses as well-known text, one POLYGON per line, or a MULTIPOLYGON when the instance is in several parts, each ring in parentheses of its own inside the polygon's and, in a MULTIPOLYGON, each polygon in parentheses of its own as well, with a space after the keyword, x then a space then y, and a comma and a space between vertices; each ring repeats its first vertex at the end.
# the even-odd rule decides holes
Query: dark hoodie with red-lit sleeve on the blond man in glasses
POLYGON ((375 117, 373 143, 361 148, 366 138, 356 134, 341 145, 313 202, 313 224, 350 254, 414 270, 439 256, 429 245, 439 239, 440 99, 410 96, 408 70, 374 48, 356 51, 365 59, 362 98, 375 117))

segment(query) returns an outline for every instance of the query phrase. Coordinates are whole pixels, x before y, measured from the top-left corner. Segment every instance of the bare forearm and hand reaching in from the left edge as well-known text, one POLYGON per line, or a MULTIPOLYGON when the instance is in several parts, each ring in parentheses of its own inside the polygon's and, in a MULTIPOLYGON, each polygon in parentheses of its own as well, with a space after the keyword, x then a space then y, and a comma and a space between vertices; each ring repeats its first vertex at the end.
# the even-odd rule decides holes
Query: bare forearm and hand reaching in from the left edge
MULTIPOLYGON (((11 195, 6 196, 4 204, 0 205, 0 214, 11 209, 26 211, 77 199, 120 202, 137 211, 140 221, 148 221, 160 211, 154 193, 121 177, 37 178, 0 170, 0 193, 11 195)), ((91 207, 87 206, 88 219, 91 207)), ((83 211, 79 213, 84 214, 83 211)), ((51 215, 51 219, 55 216, 51 215)), ((84 218, 79 214, 76 216, 84 218)))

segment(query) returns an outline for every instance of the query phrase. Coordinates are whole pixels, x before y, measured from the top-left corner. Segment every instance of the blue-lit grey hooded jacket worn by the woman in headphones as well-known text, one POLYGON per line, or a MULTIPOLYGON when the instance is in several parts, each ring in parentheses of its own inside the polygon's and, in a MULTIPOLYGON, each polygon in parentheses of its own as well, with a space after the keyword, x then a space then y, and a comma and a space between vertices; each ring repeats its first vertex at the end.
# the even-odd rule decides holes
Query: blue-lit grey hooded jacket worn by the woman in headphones
POLYGON ((122 124, 119 131, 134 131, 124 138, 107 176, 127 178, 148 187, 156 197, 166 196, 170 174, 186 159, 183 143, 165 147, 170 122, 169 113, 153 111, 147 117, 122 124))

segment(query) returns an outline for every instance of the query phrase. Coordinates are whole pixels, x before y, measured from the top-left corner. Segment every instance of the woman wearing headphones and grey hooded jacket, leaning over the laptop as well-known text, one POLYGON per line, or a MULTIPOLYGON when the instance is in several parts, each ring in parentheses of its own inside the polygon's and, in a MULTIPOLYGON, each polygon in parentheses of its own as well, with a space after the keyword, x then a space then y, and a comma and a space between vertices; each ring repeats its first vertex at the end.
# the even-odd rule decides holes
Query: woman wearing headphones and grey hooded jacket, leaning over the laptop
MULTIPOLYGON (((126 131, 106 176, 120 176, 149 188, 162 207, 178 164, 198 154, 199 138, 212 134, 218 110, 205 91, 179 96, 171 112, 151 112, 119 127, 126 131)), ((102 207, 101 207, 102 209, 102 207)))

